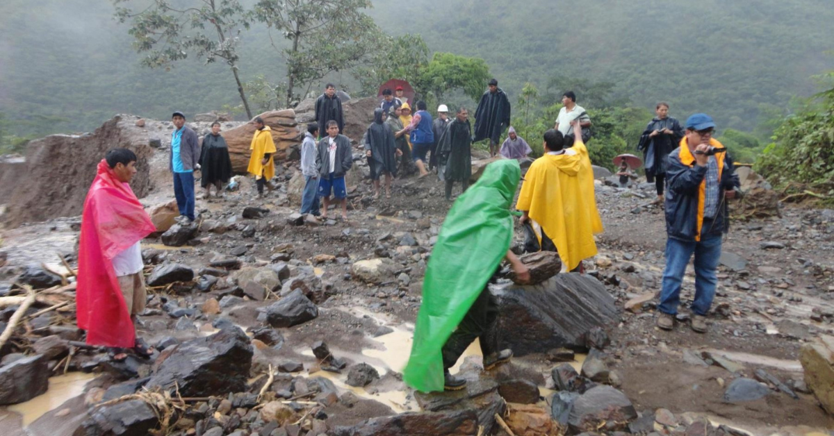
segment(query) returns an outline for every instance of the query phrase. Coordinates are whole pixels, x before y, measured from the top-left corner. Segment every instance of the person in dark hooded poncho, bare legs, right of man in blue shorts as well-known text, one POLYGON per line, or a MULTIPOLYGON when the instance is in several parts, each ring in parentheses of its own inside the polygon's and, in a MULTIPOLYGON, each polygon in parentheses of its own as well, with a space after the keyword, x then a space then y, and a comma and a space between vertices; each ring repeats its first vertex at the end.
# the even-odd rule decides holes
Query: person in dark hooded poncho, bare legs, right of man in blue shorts
POLYGON ((391 178, 397 175, 397 157, 403 152, 394 143, 394 132, 384 123, 382 108, 374 109, 374 123, 364 134, 365 155, 370 178, 374 181, 374 198, 379 198, 379 178, 385 175, 385 198, 391 198, 391 178))

